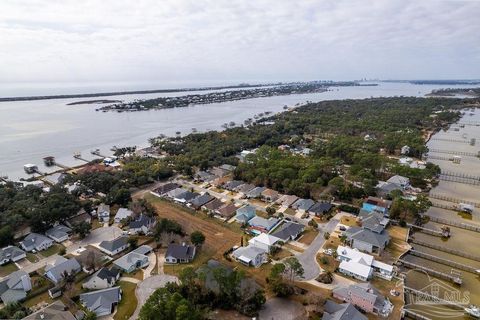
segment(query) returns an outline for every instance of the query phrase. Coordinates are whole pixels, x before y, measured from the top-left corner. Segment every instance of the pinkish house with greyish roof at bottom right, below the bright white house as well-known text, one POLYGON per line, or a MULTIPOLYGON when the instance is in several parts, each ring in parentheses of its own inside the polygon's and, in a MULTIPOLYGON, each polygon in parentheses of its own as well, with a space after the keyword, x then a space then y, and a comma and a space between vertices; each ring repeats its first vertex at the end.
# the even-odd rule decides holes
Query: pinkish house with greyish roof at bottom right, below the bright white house
POLYGON ((370 283, 352 284, 348 287, 333 289, 333 297, 353 304, 368 313, 388 317, 393 304, 370 283))

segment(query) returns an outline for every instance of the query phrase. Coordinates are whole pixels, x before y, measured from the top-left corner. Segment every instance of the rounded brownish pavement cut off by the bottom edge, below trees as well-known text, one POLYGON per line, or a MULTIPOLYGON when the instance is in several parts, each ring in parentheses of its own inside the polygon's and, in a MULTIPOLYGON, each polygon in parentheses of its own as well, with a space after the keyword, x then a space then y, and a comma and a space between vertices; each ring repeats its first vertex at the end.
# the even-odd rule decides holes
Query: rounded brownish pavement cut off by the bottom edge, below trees
POLYGON ((267 300, 260 310, 260 320, 301 320, 306 319, 305 308, 296 301, 282 298, 267 300))

